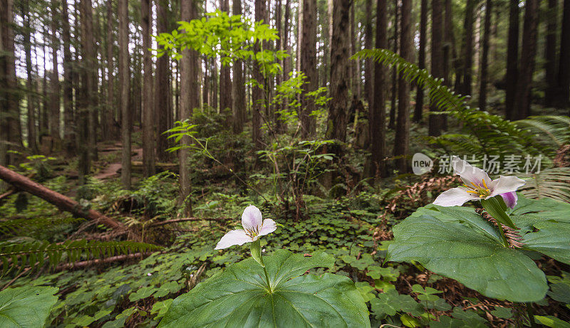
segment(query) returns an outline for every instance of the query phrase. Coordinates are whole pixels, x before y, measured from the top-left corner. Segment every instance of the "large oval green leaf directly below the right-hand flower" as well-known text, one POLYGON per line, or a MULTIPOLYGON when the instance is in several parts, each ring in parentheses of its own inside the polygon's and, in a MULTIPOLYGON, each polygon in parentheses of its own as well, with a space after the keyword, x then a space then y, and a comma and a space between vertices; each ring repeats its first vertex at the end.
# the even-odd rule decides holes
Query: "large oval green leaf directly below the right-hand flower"
POLYGON ((546 277, 530 258, 459 221, 410 216, 393 233, 386 260, 416 260, 487 297, 534 302, 546 295, 546 277))

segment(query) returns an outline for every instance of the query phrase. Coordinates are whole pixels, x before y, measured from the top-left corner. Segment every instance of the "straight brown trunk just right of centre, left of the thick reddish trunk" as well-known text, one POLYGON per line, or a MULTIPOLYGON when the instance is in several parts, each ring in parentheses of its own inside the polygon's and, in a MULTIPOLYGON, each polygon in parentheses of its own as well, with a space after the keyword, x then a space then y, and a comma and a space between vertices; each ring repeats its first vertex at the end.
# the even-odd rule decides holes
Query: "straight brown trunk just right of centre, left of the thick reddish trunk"
POLYGON ((303 23, 301 37, 301 71, 306 75, 306 84, 301 95, 301 136, 306 139, 314 136, 316 125, 311 112, 316 105, 309 95, 318 88, 318 72, 316 70, 316 0, 303 0, 303 23))

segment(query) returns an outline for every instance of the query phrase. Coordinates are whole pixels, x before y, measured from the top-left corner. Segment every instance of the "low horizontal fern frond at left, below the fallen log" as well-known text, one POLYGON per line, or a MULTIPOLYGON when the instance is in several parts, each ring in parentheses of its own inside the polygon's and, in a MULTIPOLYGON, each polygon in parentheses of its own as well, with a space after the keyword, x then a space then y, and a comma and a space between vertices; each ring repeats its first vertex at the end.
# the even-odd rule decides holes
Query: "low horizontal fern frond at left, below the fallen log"
POLYGON ((68 240, 64 243, 28 242, 0 243, 0 260, 2 275, 11 269, 19 267, 41 268, 46 261, 52 267, 65 260, 73 263, 77 260, 105 258, 118 254, 150 252, 162 247, 147 243, 132 241, 98 241, 98 240, 68 240), (66 258, 63 259, 63 255, 66 258))

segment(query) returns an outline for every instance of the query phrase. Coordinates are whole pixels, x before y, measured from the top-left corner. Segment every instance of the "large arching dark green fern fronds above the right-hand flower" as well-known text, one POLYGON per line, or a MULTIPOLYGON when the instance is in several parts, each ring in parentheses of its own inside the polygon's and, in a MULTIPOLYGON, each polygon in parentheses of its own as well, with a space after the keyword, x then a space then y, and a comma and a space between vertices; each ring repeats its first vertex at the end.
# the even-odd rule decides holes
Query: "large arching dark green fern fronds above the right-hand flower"
POLYGON ((353 58, 372 58, 378 63, 394 67, 400 77, 415 82, 419 88, 429 89, 429 96, 440 112, 452 115, 463 123, 463 134, 443 134, 440 137, 429 137, 432 144, 437 144, 449 152, 470 152, 471 154, 504 154, 527 152, 541 154, 539 144, 526 131, 514 122, 504 120, 498 115, 492 115, 471 108, 465 102, 466 97, 457 95, 443 85, 443 79, 434 78, 425 69, 409 63, 398 54, 386 49, 365 49, 358 51, 353 58))

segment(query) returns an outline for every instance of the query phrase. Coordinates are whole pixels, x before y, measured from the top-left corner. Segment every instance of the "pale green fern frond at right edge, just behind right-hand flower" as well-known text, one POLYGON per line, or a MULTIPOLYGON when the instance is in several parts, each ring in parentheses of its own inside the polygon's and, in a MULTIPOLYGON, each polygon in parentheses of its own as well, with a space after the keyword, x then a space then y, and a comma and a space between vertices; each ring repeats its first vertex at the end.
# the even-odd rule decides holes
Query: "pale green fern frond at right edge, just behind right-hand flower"
POLYGON ((533 199, 551 198, 570 202, 570 167, 546 169, 534 174, 521 190, 525 197, 533 199))

